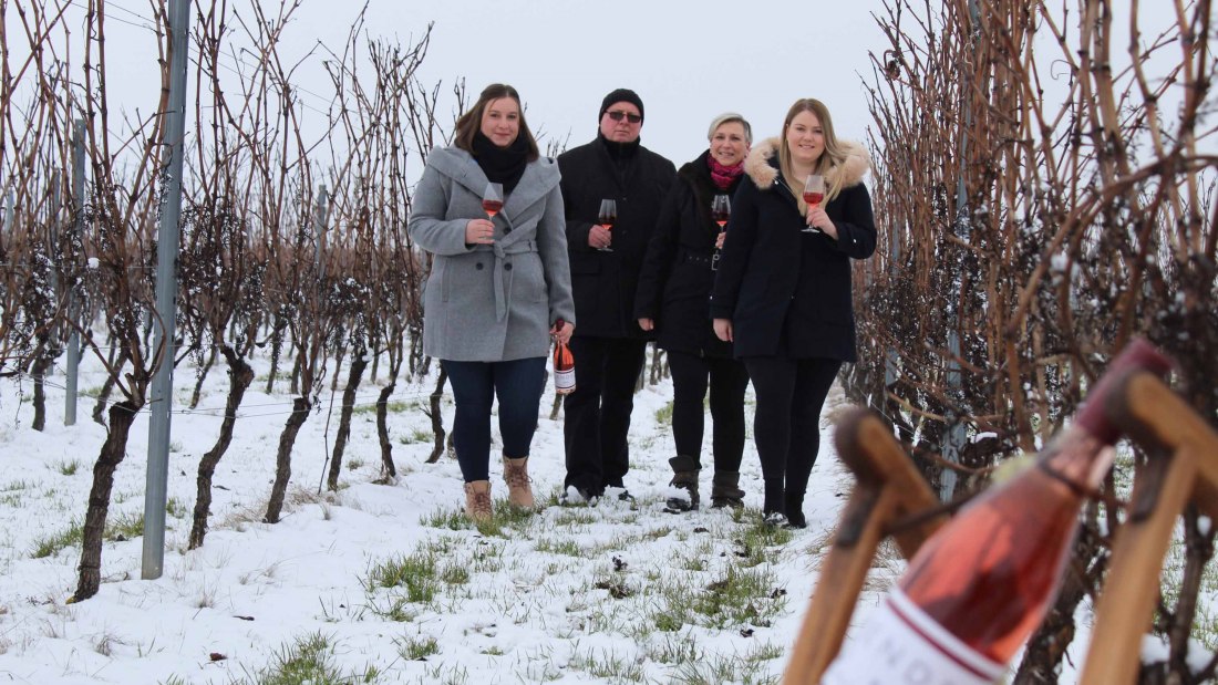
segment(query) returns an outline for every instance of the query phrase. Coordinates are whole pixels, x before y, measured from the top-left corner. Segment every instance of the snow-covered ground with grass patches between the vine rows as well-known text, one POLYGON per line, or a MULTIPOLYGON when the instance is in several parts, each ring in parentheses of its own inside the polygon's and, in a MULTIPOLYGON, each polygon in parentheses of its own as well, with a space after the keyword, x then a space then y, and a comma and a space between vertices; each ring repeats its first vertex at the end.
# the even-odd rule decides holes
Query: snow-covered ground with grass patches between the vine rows
MULTIPOLYGON (((82 369, 82 392, 95 393, 97 364, 82 369)), ((555 505, 561 419, 548 419, 547 393, 530 465, 546 506, 480 532, 459 516, 456 461, 424 464, 431 438, 420 408, 430 380, 400 384, 392 398, 398 482, 374 483, 378 388, 365 383, 342 487, 318 494, 337 431, 339 399, 331 416, 324 393, 296 443, 283 521, 262 523, 291 402, 283 381, 274 394, 263 393, 264 374, 259 369, 217 470, 206 544, 188 551, 195 472, 216 439, 227 378, 213 371, 200 410, 186 411, 194 372, 177 371, 164 573, 140 579, 143 538, 107 541, 101 591, 79 603, 66 603, 79 543, 38 558, 34 551, 54 549, 83 520, 105 429, 89 420, 88 398, 78 425, 65 427, 63 394, 51 387, 48 427, 33 431, 32 382, 0 383, 0 681, 290 683, 303 676, 292 680, 285 663, 308 655, 329 664, 331 681, 352 683, 780 680, 849 489, 831 439, 832 416, 844 406, 839 391, 821 421, 806 530, 775 534, 759 526, 752 433, 743 515, 661 511, 672 454, 658 416, 671 398, 664 382, 636 399, 633 505, 555 505)), ((63 377, 49 381, 62 386, 63 377)), ((447 411, 451 426, 451 405, 447 411)), ((145 412, 116 477, 112 523, 143 516, 146 444, 145 412)), ((708 434, 704 453, 709 444, 708 434)), ((497 500, 505 495, 498 475, 492 465, 497 500)), ((709 481, 706 468, 708 490, 709 481)), ((885 577, 890 572, 878 573, 860 608, 875 603, 885 577)))

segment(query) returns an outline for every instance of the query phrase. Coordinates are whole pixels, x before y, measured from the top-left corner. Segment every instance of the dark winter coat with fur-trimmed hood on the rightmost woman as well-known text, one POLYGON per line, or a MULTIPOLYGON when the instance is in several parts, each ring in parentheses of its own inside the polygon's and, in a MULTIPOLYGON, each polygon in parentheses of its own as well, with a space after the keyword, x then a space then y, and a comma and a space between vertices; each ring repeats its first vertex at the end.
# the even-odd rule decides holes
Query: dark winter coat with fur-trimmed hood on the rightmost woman
MULTIPOLYGON (((754 148, 748 176, 732 201, 732 219, 716 271, 710 311, 731 319, 737 356, 783 355, 855 361, 850 259, 876 251, 871 196, 862 175, 871 162, 862 146, 848 152, 843 190, 825 206, 838 240, 805 228, 795 196, 781 180, 778 139, 754 148)), ((832 176, 826 179, 832 183, 832 176)))

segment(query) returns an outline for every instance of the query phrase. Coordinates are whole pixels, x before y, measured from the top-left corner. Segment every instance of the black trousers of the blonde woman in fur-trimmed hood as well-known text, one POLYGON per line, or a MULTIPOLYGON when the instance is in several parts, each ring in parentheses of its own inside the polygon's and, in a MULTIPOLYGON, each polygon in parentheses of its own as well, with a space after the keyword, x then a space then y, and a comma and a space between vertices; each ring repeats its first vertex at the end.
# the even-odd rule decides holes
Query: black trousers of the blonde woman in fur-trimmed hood
POLYGON ((765 479, 764 511, 801 517, 808 478, 821 450, 821 409, 842 361, 750 356, 758 406, 753 439, 765 479))

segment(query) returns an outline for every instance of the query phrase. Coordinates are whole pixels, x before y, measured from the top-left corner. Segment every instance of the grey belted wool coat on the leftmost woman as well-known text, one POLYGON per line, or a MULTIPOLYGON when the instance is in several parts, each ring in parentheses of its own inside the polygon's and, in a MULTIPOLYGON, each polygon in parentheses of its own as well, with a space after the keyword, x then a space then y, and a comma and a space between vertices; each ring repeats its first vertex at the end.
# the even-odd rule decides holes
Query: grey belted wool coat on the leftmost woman
POLYGON ((423 296, 423 352, 453 361, 546 356, 558 319, 575 324, 558 164, 530 162, 495 217, 495 245, 465 245, 486 218, 486 174, 459 147, 436 148, 415 187, 408 230, 435 256, 423 296))

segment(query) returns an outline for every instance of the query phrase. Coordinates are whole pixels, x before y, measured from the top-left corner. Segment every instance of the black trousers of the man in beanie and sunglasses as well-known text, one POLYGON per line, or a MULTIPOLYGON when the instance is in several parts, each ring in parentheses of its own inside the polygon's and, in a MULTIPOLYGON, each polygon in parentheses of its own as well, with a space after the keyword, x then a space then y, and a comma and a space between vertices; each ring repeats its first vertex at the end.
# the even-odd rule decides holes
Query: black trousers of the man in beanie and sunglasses
POLYGON ((566 478, 590 494, 621 488, 630 470, 630 412, 647 341, 572 337, 575 392, 563 400, 566 478))

